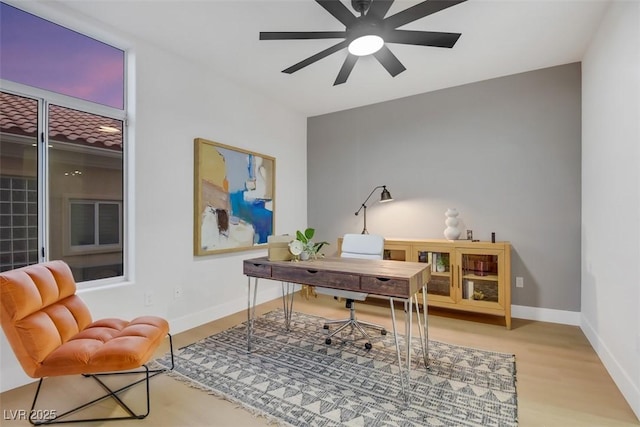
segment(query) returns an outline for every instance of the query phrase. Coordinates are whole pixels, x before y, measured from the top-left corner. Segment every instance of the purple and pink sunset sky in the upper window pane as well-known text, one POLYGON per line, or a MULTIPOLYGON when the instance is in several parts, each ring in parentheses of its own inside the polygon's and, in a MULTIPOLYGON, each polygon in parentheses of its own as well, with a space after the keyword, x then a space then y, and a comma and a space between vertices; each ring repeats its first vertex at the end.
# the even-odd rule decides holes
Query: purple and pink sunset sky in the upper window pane
POLYGON ((0 3, 0 78, 124 108, 124 52, 0 3))

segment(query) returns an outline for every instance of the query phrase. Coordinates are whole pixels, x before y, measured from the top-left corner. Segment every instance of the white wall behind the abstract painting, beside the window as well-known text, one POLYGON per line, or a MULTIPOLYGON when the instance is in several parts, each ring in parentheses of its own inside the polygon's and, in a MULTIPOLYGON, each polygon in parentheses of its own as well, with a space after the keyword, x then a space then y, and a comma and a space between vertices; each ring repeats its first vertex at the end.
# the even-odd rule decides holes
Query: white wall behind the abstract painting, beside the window
MULTIPOLYGON (((73 16, 66 21, 81 31, 83 25, 98 25, 73 16)), ((306 118, 176 54, 126 34, 116 36, 129 40, 135 51, 135 217, 130 224, 135 276, 129 285, 82 296, 95 318, 154 314, 167 318, 177 333, 245 309, 242 260, 266 255, 266 250, 193 255, 193 139, 274 156, 276 232, 291 233, 304 228, 307 219, 306 118), (181 299, 173 298, 175 286, 184 290, 181 299), (153 292, 153 305, 144 305, 145 292, 153 292)), ((262 286, 259 299, 279 292, 279 284, 262 286)), ((1 391, 31 381, 4 335, 1 344, 1 391)))

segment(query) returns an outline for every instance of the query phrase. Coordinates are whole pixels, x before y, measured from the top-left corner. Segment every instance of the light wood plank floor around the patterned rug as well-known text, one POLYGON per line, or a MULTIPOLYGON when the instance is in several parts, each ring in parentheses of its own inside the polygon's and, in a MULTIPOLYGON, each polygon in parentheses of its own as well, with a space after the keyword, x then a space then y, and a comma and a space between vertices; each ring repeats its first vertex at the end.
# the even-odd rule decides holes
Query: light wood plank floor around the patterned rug
MULTIPOLYGON (((275 300, 257 308, 258 314, 281 307, 275 300)), ((327 318, 345 318, 343 303, 326 296, 306 300, 296 295, 296 311, 327 318)), ((435 310, 430 310, 434 312, 435 310)), ((391 330, 386 305, 359 304, 358 317, 381 323, 391 330)), ((174 337, 176 348, 224 330, 246 319, 246 312, 217 320, 174 337)), ((478 320, 478 319, 475 319, 478 320)), ((459 314, 429 315, 429 338, 469 347, 516 355, 519 423, 521 426, 637 426, 640 422, 631 411, 613 380, 578 327, 528 320, 513 320, 508 331, 499 322, 470 321, 459 314)), ((417 328, 414 328, 416 330, 417 328)), ((322 338, 320 338, 322 339, 322 338)), ((158 355, 167 351, 168 345, 158 355)), ((49 378, 38 405, 42 409, 70 407, 80 398, 97 393, 92 380, 81 377, 49 378)), ((28 426, 26 421, 12 421, 11 412, 28 410, 36 384, 29 384, 0 394, 3 426, 28 426)), ((96 394, 97 396, 97 394, 96 394)), ((125 393, 125 401, 134 410, 144 409, 143 387, 125 393)), ((92 416, 121 415, 111 401, 85 411, 92 416)), ((267 420, 210 396, 166 375, 151 380, 151 414, 144 420, 91 425, 118 426, 267 426, 267 420)))

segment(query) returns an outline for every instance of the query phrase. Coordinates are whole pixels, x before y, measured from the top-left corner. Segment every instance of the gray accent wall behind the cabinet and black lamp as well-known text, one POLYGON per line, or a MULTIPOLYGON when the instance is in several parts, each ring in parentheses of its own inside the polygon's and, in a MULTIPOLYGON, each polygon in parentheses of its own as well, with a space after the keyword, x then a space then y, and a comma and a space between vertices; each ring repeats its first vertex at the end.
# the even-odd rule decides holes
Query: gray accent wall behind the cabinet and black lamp
POLYGON ((580 91, 574 63, 311 117, 308 225, 360 232, 385 184, 370 233, 441 239, 455 207, 461 238, 512 243, 513 304, 580 311, 580 91))

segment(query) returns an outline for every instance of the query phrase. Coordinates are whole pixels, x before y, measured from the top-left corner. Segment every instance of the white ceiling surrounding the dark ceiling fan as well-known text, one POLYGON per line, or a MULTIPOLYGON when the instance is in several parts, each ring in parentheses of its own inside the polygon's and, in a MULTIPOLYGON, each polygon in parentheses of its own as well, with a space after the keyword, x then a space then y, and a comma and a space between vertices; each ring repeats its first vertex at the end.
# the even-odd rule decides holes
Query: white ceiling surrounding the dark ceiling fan
MULTIPOLYGON (((343 0, 351 9, 350 0, 343 0)), ((375 0, 374 0, 375 1, 375 0)), ((418 0, 396 0, 387 16, 418 0)), ((402 28, 459 32, 453 49, 390 44, 407 68, 391 77, 360 58, 333 86, 346 49, 294 74, 281 70, 339 40, 260 41, 260 31, 341 31, 314 0, 55 0, 284 106, 315 116, 580 61, 609 0, 468 0, 402 28)))

